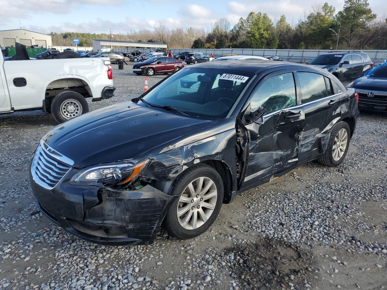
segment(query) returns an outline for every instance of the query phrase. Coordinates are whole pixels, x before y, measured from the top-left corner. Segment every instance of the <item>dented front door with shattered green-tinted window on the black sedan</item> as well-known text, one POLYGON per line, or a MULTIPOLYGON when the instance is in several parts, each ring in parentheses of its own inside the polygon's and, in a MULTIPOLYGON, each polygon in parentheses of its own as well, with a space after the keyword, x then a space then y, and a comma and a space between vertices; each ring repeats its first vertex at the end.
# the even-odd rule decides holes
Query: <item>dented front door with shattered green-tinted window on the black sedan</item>
POLYGON ((245 124, 250 135, 247 169, 241 188, 252 188, 280 176, 298 163, 298 145, 305 114, 294 73, 264 77, 250 95, 250 110, 266 109, 263 123, 245 124), (282 173, 281 173, 282 172, 282 173))

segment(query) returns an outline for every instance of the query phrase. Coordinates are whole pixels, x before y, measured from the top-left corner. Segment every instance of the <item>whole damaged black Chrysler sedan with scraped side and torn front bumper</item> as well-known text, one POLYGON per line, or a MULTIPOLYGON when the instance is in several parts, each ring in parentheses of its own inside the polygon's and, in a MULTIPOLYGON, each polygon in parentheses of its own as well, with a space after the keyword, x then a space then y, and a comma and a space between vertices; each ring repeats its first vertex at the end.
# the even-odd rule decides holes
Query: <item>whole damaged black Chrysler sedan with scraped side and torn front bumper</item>
POLYGON ((357 101, 308 65, 194 65, 49 131, 31 160, 33 192, 45 215, 93 242, 147 244, 161 225, 192 238, 241 191, 313 159, 339 165, 357 101))

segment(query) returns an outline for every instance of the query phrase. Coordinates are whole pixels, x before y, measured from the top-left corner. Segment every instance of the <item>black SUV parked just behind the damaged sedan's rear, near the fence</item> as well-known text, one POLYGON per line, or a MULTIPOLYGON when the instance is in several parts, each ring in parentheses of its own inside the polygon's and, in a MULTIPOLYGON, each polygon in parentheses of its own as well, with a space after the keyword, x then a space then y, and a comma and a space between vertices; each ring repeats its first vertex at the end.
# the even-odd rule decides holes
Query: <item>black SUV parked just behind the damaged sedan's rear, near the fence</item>
POLYGON ((351 82, 363 77, 367 70, 373 68, 373 62, 364 52, 324 53, 309 62, 332 73, 341 82, 351 82))

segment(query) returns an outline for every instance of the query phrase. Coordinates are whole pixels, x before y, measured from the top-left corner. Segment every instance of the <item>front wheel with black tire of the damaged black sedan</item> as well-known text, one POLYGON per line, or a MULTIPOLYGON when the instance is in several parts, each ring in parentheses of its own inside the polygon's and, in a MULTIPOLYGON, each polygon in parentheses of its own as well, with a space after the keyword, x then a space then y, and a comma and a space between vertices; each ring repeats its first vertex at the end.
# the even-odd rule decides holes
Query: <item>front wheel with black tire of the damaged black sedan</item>
MULTIPOLYGON (((223 181, 219 173, 211 166, 206 164, 195 164, 192 167, 188 168, 186 171, 184 171, 175 180, 171 194, 177 195, 178 198, 176 198, 176 200, 171 204, 170 208, 168 209, 168 212, 163 222, 163 226, 166 231, 174 237, 177 237, 179 239, 192 239, 194 237, 197 237, 198 235, 203 234, 216 220, 216 217, 219 214, 223 203, 223 181), (201 178, 203 178, 202 189, 205 186, 209 185, 212 181, 211 187, 203 193, 204 195, 202 195, 204 196, 204 200, 200 197, 200 195, 198 196, 191 194, 192 196, 190 196, 190 194, 187 193, 188 185, 195 183, 198 186, 201 178), (212 196, 209 199, 206 199, 205 197, 209 194, 213 194, 214 190, 216 190, 216 195, 212 196), (188 202, 184 203, 180 201, 180 198, 185 198, 185 200, 187 200, 188 202), (194 202, 192 202, 192 200, 189 200, 191 198, 192 200, 194 200, 194 202), (200 201, 200 199, 202 199, 203 201, 200 201), (208 203, 205 201, 208 201, 208 203), (211 205, 213 208, 207 208, 207 205, 211 205), (185 208, 188 208, 188 211, 178 217, 178 210, 180 209, 180 211, 184 211, 185 208), (204 214, 206 221, 204 221, 202 214, 204 214), (194 227, 195 216, 197 217, 196 227, 194 227), (187 217, 188 223, 184 227, 183 222, 187 217)), ((194 194, 196 194, 196 192, 194 194)))

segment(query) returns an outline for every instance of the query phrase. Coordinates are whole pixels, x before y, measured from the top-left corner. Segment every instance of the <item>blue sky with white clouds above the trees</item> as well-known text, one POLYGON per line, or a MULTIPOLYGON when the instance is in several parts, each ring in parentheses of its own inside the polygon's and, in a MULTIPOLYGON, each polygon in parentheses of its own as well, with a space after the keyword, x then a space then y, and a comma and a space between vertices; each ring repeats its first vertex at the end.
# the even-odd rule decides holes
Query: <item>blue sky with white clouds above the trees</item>
MULTIPOLYGON (((219 18, 231 25, 249 12, 265 12, 273 20, 286 15, 296 23, 313 3, 328 2, 341 10, 344 0, 235 0, 235 1, 161 1, 145 0, 0 0, 0 30, 24 28, 38 32, 126 33, 130 29, 153 29, 159 22, 168 28, 209 29, 219 18)), ((386 0, 369 0, 378 17, 386 18, 386 0)))

